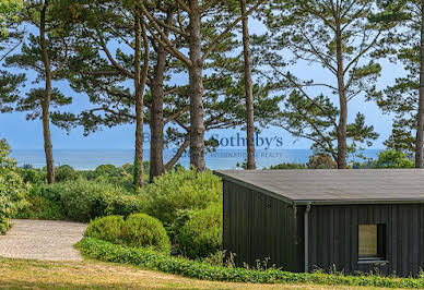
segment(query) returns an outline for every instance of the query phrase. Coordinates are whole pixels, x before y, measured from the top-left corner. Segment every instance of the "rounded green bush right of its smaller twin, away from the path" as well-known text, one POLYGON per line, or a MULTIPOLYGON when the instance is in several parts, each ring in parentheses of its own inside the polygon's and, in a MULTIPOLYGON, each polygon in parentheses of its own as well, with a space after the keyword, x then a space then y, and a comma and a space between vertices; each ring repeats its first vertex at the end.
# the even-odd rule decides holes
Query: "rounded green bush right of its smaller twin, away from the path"
POLYGON ((146 214, 134 214, 127 218, 122 229, 123 243, 133 246, 153 247, 169 253, 170 243, 162 222, 146 214))

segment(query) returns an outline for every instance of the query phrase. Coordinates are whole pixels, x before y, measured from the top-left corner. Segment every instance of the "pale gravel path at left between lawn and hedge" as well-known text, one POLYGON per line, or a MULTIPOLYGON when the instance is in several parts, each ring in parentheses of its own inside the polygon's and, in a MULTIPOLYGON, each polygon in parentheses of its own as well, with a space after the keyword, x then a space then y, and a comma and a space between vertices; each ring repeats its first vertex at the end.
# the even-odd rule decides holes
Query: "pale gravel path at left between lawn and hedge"
POLYGON ((86 229, 86 225, 19 219, 12 229, 0 235, 0 256, 43 261, 82 261, 73 249, 86 229))

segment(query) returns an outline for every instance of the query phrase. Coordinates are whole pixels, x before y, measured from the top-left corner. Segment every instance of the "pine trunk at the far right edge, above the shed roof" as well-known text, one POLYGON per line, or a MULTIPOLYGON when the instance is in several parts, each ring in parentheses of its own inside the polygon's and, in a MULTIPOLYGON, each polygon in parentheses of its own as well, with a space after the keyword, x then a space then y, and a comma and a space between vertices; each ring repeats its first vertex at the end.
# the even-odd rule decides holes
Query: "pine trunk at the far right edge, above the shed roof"
POLYGON ((421 3, 421 68, 419 123, 416 128, 415 167, 423 168, 423 130, 424 130, 424 0, 421 3))

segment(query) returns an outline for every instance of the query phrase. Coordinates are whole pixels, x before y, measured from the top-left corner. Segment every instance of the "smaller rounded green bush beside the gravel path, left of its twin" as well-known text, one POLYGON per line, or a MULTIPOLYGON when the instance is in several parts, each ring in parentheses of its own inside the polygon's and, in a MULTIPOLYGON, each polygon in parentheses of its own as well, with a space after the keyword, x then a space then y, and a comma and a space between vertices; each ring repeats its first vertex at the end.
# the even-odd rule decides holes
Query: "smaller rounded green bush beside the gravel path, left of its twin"
POLYGON ((121 243, 123 217, 108 216, 96 218, 90 222, 84 235, 111 243, 121 243))

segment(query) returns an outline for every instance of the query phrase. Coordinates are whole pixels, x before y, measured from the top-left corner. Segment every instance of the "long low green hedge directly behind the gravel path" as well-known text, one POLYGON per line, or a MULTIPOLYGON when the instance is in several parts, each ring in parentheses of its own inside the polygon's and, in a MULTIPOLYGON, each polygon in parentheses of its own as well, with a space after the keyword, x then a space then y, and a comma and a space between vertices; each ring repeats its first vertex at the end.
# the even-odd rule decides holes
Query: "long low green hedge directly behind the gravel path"
POLYGON ((101 216, 129 216, 144 208, 138 195, 127 194, 108 182, 81 178, 36 185, 27 198, 32 205, 20 212, 21 218, 89 221, 101 216))

